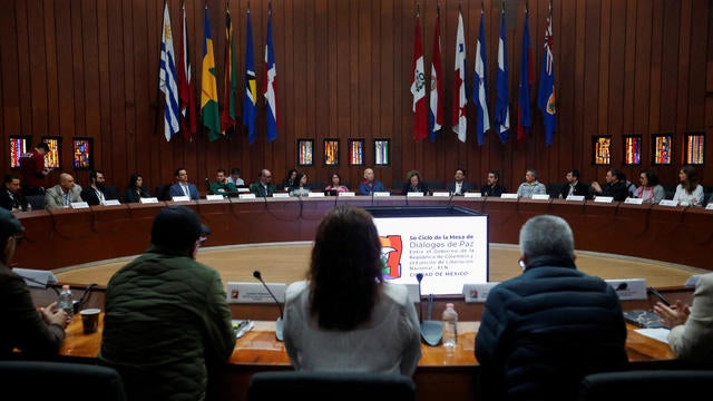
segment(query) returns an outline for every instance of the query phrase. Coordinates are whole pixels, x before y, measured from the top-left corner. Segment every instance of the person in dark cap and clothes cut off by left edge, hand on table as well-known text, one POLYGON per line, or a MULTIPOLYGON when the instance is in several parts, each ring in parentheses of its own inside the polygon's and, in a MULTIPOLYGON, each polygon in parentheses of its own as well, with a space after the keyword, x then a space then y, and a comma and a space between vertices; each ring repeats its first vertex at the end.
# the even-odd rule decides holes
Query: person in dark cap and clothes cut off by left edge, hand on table
POLYGON ((25 280, 8 267, 25 228, 14 215, 0 208, 0 359, 22 355, 50 359, 65 340, 67 313, 56 302, 39 311, 25 280))

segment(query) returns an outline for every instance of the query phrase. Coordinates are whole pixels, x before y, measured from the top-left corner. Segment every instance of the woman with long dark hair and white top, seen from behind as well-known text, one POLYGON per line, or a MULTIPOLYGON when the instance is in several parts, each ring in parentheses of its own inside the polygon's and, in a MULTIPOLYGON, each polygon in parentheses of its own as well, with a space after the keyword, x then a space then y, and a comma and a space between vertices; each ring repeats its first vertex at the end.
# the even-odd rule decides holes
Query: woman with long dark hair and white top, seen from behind
POLYGON ((382 274, 371 215, 348 205, 328 212, 307 280, 285 294, 285 348, 295 370, 413 374, 421 358, 416 307, 406 286, 382 274))

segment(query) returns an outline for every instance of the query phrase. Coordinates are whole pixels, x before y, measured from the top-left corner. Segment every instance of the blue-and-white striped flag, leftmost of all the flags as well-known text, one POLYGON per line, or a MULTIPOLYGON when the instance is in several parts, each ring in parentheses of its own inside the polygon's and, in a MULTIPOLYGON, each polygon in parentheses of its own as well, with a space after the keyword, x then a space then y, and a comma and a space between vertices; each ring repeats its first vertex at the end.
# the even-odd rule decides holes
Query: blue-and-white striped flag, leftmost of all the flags
POLYGON ((164 94, 164 135, 166 140, 178 133, 178 84, 176 80, 176 53, 168 17, 168 2, 164 4, 164 28, 160 38, 160 68, 158 70, 158 89, 164 94))

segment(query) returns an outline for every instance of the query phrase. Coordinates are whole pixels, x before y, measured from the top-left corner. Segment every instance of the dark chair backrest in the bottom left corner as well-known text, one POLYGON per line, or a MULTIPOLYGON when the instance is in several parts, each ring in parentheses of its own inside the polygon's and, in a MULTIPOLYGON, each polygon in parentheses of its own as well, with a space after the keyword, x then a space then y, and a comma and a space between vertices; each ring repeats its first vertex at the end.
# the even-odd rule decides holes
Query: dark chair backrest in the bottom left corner
POLYGON ((18 400, 127 400, 116 370, 78 362, 0 361, 0 389, 18 400))

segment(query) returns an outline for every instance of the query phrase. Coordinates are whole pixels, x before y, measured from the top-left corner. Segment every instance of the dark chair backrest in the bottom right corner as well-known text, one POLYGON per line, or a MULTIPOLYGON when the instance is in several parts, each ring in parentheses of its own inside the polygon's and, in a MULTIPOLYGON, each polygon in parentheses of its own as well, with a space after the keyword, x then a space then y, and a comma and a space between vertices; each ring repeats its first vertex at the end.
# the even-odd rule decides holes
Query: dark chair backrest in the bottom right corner
POLYGON ((629 370, 586 375, 578 401, 694 400, 713 382, 713 370, 629 370))

